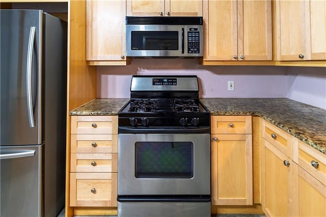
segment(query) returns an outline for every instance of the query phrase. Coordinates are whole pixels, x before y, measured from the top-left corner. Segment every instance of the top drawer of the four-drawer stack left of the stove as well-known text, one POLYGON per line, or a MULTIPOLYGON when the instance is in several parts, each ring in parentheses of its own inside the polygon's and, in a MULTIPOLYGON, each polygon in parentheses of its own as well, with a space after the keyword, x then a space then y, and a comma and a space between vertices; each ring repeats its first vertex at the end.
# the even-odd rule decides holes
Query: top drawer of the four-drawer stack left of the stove
POLYGON ((117 134, 118 116, 71 116, 71 134, 117 134))

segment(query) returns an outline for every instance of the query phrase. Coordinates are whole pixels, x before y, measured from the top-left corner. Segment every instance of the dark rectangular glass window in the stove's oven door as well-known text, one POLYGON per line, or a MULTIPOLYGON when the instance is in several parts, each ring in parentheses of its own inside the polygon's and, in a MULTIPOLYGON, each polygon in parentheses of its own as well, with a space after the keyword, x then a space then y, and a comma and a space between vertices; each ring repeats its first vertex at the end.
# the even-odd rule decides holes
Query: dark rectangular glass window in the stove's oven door
POLYGON ((135 143, 136 178, 193 178, 192 142, 135 143))

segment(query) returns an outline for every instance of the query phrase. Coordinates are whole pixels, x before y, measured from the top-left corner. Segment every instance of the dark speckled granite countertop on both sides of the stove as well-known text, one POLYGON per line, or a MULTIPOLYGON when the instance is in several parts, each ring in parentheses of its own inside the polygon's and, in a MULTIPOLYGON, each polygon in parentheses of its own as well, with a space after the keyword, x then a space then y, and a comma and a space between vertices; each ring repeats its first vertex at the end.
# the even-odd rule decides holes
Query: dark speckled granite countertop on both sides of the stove
MULTIPOLYGON (((287 98, 203 98, 211 115, 257 115, 326 154, 326 110, 287 98)), ((118 115, 128 98, 93 99, 70 115, 118 115)))

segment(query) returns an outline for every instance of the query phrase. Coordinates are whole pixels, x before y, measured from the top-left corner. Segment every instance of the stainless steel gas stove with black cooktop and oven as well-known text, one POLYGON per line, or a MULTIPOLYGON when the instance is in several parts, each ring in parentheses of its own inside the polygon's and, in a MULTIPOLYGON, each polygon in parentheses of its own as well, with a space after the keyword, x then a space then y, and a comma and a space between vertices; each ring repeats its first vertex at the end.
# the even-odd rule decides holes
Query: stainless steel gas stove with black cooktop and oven
POLYGON ((119 217, 210 216, 210 119, 197 76, 132 76, 118 133, 119 217))

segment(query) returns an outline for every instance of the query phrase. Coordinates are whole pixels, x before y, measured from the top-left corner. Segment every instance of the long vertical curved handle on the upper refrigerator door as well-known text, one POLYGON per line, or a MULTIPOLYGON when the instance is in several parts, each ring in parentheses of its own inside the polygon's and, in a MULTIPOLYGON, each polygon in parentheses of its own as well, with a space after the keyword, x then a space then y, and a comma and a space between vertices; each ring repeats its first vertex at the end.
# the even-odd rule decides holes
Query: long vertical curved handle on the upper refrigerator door
POLYGON ((36 27, 32 26, 30 30, 29 46, 27 53, 27 67, 26 67, 26 92, 27 92, 27 110, 29 115, 30 127, 35 127, 32 101, 32 61, 33 48, 36 39, 36 27))

